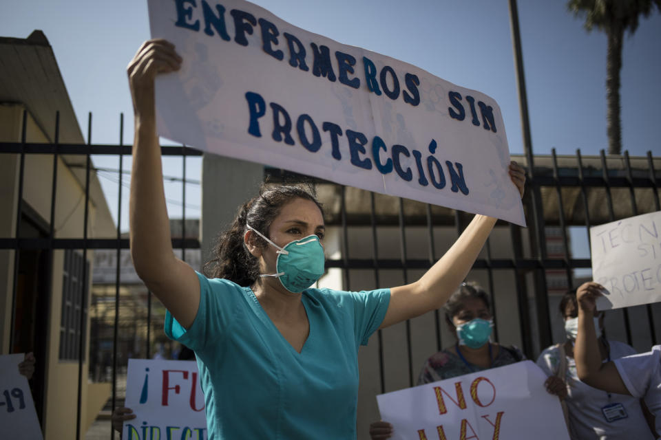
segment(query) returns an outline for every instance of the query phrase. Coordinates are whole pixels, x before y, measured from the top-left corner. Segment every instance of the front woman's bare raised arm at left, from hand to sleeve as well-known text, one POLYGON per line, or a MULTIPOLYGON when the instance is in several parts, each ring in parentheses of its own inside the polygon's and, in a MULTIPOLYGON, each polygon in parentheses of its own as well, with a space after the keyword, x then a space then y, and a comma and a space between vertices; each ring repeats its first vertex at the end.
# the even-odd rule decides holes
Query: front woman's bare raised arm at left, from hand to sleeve
POLYGON ((131 256, 138 276, 184 327, 193 323, 200 285, 193 269, 174 256, 156 135, 154 78, 179 69, 181 58, 165 40, 143 43, 127 67, 135 135, 129 200, 131 256))

